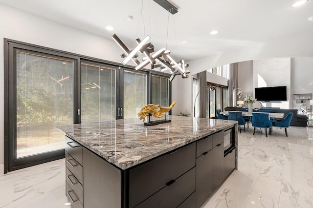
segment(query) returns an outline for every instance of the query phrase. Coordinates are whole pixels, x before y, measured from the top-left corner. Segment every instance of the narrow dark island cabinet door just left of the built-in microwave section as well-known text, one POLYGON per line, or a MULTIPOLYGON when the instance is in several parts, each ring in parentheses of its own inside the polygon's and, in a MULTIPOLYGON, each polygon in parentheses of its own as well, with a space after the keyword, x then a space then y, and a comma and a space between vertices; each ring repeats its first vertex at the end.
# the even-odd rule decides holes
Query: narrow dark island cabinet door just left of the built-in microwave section
POLYGON ((211 151, 213 158, 212 185, 215 190, 224 182, 224 143, 218 144, 211 151))

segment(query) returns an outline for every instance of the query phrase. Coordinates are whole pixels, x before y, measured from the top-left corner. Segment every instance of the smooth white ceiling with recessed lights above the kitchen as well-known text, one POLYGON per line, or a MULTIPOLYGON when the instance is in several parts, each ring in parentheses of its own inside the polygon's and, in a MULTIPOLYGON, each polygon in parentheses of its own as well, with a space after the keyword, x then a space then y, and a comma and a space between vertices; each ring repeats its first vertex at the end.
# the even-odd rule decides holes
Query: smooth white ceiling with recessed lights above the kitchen
POLYGON ((309 40, 313 21, 307 19, 313 16, 313 0, 291 8, 294 1, 172 0, 179 7, 172 15, 153 0, 0 0, 104 38, 116 33, 130 48, 136 38, 150 35, 156 49, 168 42, 172 55, 185 60, 242 50, 291 34, 309 40), (129 15, 133 21, 127 19, 129 15), (108 25, 114 30, 106 30, 108 25), (219 34, 210 35, 212 30, 219 34), (189 43, 182 44, 185 40, 189 43))

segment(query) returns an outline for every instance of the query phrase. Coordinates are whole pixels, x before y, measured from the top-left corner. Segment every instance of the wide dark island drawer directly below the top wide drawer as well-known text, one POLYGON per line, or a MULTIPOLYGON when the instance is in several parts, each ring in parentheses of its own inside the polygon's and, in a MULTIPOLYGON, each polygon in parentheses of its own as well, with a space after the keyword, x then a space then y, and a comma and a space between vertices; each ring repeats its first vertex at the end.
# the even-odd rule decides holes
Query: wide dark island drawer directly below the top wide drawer
POLYGON ((192 168, 176 182, 156 192, 136 208, 176 208, 196 190, 196 167, 192 168))

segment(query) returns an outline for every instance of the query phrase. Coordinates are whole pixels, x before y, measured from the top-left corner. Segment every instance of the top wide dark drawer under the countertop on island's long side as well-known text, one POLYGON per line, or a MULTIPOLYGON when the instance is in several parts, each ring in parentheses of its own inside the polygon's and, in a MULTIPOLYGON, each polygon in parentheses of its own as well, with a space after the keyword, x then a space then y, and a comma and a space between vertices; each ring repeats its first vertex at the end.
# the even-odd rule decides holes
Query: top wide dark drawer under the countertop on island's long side
POLYGON ((196 143, 158 157, 129 171, 130 207, 138 205, 196 165, 196 143))

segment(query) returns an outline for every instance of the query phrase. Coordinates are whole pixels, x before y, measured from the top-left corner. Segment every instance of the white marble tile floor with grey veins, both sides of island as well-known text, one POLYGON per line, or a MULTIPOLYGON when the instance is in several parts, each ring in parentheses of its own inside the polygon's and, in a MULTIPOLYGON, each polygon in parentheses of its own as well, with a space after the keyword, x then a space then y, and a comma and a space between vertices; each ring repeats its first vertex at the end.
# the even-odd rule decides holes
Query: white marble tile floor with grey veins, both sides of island
MULTIPOLYGON (((203 208, 312 208, 313 126, 239 134, 238 170, 203 208)), ((65 160, 0 175, 0 208, 69 208, 65 160)))

